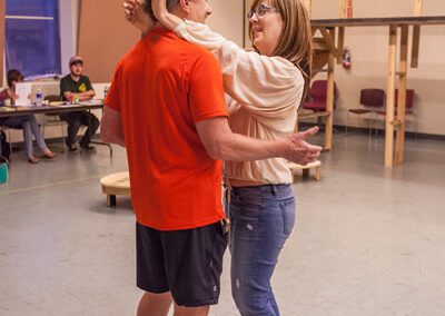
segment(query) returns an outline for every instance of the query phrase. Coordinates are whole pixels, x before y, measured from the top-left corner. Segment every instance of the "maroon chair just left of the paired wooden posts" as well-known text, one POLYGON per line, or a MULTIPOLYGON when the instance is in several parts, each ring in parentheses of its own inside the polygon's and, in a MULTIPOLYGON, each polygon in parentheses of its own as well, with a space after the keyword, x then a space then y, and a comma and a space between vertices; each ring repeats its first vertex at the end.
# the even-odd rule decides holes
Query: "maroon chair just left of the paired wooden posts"
MULTIPOLYGON (((376 109, 383 108, 385 103, 385 91, 382 89, 363 89, 360 90, 360 105, 364 106, 362 108, 348 109, 346 116, 346 134, 348 131, 349 126, 349 115, 358 116, 358 126, 362 126, 360 119, 364 115, 374 115, 376 113, 376 109)), ((372 131, 372 125, 369 124, 369 136, 372 131)))

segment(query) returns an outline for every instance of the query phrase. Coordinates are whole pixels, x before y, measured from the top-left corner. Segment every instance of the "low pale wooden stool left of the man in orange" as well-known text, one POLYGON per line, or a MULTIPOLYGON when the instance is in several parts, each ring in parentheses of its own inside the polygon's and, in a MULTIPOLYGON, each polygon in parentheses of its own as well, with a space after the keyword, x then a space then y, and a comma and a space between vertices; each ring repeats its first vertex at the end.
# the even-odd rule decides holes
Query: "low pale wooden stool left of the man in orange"
POLYGON ((116 196, 130 196, 130 176, 127 172, 119 172, 106 176, 100 179, 102 192, 107 195, 107 206, 116 206, 116 196))

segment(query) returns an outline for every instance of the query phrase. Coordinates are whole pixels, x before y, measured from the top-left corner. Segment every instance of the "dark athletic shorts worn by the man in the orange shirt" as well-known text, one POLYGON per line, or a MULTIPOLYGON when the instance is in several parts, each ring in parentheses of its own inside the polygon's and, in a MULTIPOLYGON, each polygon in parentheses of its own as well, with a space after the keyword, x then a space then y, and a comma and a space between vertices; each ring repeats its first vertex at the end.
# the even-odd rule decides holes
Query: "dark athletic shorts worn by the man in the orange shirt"
POLYGON ((137 286, 155 294, 171 292, 179 306, 218 304, 227 243, 220 221, 172 231, 137 223, 137 286))

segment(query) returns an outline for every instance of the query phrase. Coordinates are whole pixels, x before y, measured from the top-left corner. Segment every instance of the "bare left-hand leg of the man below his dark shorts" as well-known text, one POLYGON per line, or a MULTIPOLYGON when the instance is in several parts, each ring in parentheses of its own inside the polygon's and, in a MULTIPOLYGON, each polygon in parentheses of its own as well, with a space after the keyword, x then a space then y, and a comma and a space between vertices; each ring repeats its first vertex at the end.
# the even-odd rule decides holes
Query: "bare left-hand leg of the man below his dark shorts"
POLYGON ((162 294, 146 292, 140 298, 137 316, 167 316, 172 300, 169 292, 162 294))

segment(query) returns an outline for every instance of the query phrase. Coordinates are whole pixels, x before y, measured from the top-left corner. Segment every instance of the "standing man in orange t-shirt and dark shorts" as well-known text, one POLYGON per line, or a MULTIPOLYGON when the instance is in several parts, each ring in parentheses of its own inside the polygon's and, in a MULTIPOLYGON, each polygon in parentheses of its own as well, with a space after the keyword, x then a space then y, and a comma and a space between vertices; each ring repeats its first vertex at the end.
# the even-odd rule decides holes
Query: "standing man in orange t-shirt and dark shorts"
MULTIPOLYGON (((206 0, 168 3, 198 22, 211 13, 206 0)), ((298 145, 233 134, 217 61, 160 24, 119 62, 101 136, 127 148, 137 284, 146 292, 138 315, 167 315, 172 299, 179 315, 207 315, 227 246, 220 160, 294 160, 298 145)))

